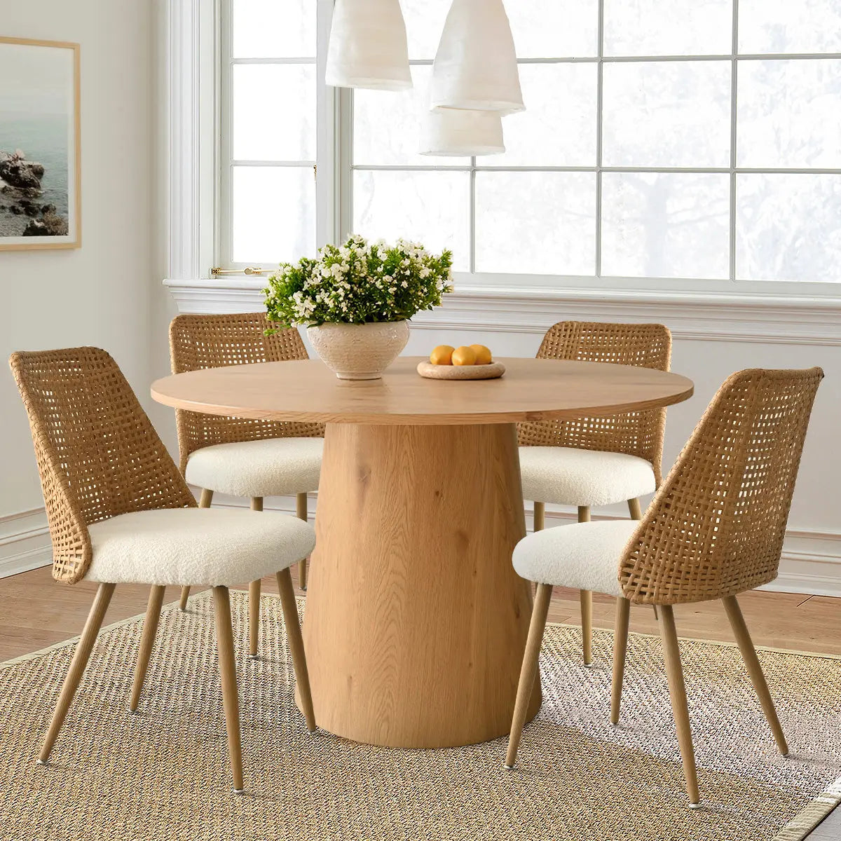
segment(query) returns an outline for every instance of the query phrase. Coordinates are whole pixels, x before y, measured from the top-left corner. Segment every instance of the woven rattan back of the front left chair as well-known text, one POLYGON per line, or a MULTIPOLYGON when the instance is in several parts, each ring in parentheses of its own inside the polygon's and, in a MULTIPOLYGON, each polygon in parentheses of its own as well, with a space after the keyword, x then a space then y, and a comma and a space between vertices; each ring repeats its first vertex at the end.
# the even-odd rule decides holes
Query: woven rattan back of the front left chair
POLYGON ((195 505, 117 363, 97 347, 13 353, 53 544, 53 578, 75 584, 91 562, 90 523, 195 505))

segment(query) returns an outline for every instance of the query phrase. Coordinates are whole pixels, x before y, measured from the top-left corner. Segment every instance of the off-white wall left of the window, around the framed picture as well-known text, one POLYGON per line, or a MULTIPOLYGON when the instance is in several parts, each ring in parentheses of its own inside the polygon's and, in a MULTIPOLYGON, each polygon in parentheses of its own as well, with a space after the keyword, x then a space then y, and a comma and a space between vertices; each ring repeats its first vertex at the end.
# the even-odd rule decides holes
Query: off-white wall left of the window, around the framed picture
MULTIPOLYGON (((145 405, 151 301, 163 273, 153 256, 153 10, 147 0, 3 4, 3 35, 82 46, 82 248, 0 251, 0 357, 102 346, 145 405)), ((43 563, 49 545, 8 368, 0 371, 0 473, 0 574, 8 574, 43 563)))

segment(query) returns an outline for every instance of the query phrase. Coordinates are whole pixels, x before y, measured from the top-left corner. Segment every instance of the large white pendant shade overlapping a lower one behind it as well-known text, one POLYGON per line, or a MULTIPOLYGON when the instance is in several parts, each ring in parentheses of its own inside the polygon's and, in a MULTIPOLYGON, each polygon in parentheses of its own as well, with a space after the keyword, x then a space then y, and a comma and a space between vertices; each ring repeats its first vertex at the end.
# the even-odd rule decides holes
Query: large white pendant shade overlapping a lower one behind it
POLYGON ((524 110, 502 0, 452 0, 432 66, 430 104, 501 114, 524 110))

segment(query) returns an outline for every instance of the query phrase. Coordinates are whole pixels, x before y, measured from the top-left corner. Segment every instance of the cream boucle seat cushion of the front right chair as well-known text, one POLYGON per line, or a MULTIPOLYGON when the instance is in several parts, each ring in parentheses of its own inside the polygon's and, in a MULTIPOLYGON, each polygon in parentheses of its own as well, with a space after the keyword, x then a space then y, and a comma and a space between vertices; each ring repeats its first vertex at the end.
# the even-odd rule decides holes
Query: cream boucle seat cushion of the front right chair
POLYGON ((622 595, 619 559, 639 523, 574 523, 534 532, 514 547, 514 569, 537 584, 622 595))

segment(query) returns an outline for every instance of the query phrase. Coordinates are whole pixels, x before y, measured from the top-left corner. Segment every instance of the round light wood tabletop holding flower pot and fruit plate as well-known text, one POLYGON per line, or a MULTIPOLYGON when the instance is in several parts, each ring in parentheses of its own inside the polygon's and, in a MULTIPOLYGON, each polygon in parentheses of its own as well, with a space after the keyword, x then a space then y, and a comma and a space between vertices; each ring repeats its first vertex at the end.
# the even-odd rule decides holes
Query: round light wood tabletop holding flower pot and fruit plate
POLYGON ((174 374, 152 396, 177 409, 274 421, 478 424, 614 415, 685 400, 691 380, 606 362, 500 359, 499 379, 421 377, 422 357, 399 357, 382 379, 340 380, 317 359, 174 374))

